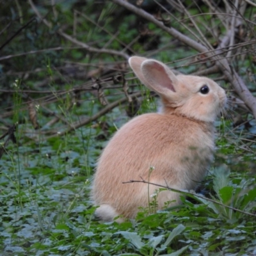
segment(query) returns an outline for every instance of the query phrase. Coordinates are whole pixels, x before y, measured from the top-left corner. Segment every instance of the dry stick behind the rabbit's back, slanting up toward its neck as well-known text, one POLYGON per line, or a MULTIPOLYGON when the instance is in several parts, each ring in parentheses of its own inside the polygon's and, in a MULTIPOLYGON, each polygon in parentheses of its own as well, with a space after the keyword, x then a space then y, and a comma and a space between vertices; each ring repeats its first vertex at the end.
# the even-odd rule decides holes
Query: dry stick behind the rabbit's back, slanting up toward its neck
MULTIPOLYGON (((136 98, 136 97, 139 97, 141 96, 142 92, 137 92, 137 93, 133 93, 131 95, 129 95, 129 97, 131 97, 132 99, 133 98, 136 98)), ((54 131, 54 134, 47 137, 48 138, 54 138, 56 136, 61 136, 63 134, 67 134, 69 132, 72 132, 72 131, 75 131, 76 129, 78 129, 79 127, 82 127, 86 124, 90 124, 91 122, 97 120, 100 116, 102 115, 105 115, 106 113, 108 113, 111 109, 113 108, 116 108, 118 105, 126 102, 128 99, 127 97, 123 97, 122 99, 120 100, 116 100, 115 102, 112 102, 111 104, 109 104, 108 106, 106 106, 106 108, 104 109, 101 109, 97 114, 95 114, 94 116, 90 117, 90 118, 86 118, 84 120, 81 120, 79 122, 76 122, 74 124, 72 124, 72 127, 68 128, 67 130, 65 131, 62 131, 62 132, 56 132, 54 131)))

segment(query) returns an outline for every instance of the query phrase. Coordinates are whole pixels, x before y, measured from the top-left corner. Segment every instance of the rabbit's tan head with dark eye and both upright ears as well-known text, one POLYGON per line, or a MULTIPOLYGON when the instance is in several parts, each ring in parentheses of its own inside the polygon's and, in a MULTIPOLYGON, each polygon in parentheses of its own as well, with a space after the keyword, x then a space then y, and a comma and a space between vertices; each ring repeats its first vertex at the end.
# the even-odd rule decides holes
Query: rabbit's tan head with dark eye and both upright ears
POLYGON ((129 58, 129 64, 140 81, 161 97, 163 113, 213 122, 225 106, 225 91, 212 79, 175 76, 163 63, 138 56, 129 58))

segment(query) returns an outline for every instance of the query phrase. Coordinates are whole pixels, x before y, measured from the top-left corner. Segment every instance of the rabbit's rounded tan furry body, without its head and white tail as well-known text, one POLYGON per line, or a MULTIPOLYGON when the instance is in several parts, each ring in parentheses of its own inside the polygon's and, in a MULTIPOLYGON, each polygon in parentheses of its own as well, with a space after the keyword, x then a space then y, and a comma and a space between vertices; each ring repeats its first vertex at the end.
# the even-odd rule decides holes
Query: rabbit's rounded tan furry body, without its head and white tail
MULTIPOLYGON (((150 176, 150 182, 195 188, 205 175, 213 147, 212 124, 159 113, 138 116, 116 132, 100 156, 93 200, 132 218, 134 209, 148 205, 148 196, 143 195, 149 192, 148 185, 122 182, 150 176)), ((150 188, 150 193, 156 189, 150 188)))

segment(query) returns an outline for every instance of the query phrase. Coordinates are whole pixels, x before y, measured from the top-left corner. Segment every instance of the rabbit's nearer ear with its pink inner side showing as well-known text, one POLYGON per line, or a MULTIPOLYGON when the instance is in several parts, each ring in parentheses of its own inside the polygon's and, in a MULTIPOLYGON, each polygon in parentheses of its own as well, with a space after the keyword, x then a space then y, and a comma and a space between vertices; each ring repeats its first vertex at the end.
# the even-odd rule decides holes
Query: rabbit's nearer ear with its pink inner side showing
POLYGON ((163 96, 171 96, 176 92, 178 79, 163 63, 156 60, 145 60, 141 63, 141 73, 145 85, 163 96))

